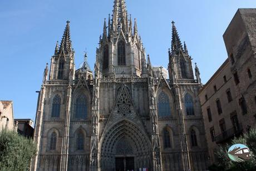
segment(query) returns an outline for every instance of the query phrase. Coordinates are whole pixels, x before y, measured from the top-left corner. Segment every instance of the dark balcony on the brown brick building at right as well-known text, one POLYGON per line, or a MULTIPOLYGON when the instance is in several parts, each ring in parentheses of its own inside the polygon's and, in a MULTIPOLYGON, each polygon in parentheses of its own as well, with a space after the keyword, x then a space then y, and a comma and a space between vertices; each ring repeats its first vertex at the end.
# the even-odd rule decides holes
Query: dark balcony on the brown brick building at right
POLYGON ((216 135, 215 140, 216 140, 217 144, 223 143, 223 142, 227 141, 228 139, 238 136, 242 133, 243 133, 242 124, 238 124, 237 127, 227 129, 225 132, 223 132, 219 135, 216 135))

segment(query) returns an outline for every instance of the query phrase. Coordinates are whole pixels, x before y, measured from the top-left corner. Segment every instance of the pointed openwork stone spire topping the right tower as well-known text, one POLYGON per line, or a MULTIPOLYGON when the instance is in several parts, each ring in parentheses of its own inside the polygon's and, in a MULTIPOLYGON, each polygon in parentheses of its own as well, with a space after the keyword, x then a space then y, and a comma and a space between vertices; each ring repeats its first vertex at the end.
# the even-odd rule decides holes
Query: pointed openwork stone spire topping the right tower
POLYGON ((173 24, 173 33, 172 33, 172 40, 171 40, 171 53, 172 54, 179 54, 180 51, 184 52, 182 44, 180 42, 180 37, 178 31, 174 25, 174 21, 171 22, 173 24))

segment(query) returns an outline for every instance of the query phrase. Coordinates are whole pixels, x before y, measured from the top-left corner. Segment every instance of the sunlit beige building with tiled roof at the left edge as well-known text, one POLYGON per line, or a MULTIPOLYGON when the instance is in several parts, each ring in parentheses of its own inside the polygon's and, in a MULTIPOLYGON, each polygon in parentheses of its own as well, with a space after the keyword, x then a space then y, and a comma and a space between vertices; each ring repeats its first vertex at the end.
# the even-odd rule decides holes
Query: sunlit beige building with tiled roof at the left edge
POLYGON ((0 131, 14 129, 12 101, 0 100, 0 131))

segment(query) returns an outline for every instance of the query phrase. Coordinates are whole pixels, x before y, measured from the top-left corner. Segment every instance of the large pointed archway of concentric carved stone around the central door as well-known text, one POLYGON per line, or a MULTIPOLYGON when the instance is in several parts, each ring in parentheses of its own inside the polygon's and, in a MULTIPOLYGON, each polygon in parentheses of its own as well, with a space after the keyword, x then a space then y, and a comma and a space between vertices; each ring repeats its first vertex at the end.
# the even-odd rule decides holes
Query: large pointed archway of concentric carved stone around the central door
POLYGON ((150 168, 152 154, 150 140, 139 127, 127 120, 122 120, 107 130, 100 144, 100 161, 103 170, 115 168, 117 155, 134 157, 135 168, 150 168), (123 149, 117 149, 120 143, 126 144, 123 149))

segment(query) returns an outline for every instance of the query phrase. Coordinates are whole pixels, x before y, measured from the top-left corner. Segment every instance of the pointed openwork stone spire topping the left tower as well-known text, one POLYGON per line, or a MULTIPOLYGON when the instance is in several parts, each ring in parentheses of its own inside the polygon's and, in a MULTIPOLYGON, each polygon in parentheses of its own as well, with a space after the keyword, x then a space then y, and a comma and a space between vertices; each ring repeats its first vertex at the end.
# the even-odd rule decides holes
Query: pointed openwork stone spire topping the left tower
MULTIPOLYGON (((65 31, 62 36, 60 51, 64 51, 66 54, 72 49, 71 39, 70 39, 70 21, 67 21, 65 31)), ((59 51, 59 53, 60 53, 59 51)))

